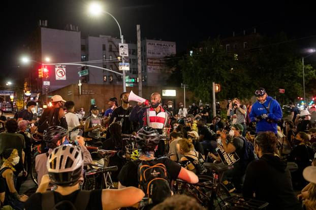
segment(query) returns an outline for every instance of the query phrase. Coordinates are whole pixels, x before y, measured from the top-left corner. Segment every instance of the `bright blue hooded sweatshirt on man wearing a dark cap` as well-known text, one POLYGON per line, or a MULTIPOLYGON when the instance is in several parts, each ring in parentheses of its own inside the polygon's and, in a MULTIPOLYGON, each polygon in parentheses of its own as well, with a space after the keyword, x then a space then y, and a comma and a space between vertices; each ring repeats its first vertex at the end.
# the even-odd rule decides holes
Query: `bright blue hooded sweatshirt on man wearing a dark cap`
MULTIPOLYGON (((262 114, 267 114, 269 119, 275 121, 282 119, 282 110, 280 104, 270 96, 267 96, 266 102, 263 104, 261 104, 259 101, 256 101, 254 104, 252 104, 251 112, 249 114, 251 122, 255 122, 256 118, 260 117, 262 114), (268 111, 262 105, 268 109, 270 101, 270 112, 268 114, 268 111)), ((277 124, 275 122, 267 122, 267 119, 261 119, 257 122, 256 133, 263 131, 272 131, 277 133, 276 126, 277 124)))

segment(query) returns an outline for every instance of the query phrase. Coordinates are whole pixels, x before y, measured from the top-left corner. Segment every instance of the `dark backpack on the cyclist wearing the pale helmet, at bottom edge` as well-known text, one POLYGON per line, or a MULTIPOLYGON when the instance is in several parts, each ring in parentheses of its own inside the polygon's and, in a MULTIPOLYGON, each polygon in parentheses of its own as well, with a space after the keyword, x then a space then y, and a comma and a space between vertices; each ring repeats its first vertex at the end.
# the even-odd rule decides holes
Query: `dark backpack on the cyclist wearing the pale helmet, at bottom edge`
POLYGON ((85 210, 90 199, 90 192, 80 190, 74 203, 69 200, 61 200, 56 204, 52 202, 54 201, 54 191, 45 192, 42 194, 42 209, 85 210))

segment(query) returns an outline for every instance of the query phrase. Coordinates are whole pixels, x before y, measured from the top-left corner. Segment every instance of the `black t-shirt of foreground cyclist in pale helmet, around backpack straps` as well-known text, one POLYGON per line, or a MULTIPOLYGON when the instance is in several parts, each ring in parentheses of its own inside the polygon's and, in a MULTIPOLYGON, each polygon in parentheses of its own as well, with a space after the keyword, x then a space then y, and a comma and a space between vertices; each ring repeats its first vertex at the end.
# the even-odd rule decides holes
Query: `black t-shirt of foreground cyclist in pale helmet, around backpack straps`
MULTIPOLYGON (((75 202, 79 190, 72 192, 69 195, 61 195, 54 191, 55 204, 62 200, 69 200, 75 202)), ((53 202, 53 201, 52 201, 53 202)), ((25 209, 42 210, 42 193, 35 193, 31 195, 25 202, 25 209)), ((92 190, 86 210, 102 209, 102 190, 92 190)), ((46 210, 46 209, 44 209, 46 210)))

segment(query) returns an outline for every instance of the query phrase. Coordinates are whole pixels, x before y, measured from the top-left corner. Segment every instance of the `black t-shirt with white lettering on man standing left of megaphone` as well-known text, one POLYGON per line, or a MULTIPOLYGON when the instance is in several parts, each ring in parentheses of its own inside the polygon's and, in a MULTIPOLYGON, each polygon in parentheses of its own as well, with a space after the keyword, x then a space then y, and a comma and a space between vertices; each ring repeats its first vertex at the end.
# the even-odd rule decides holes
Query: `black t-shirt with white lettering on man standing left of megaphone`
POLYGON ((131 112, 132 112, 132 107, 129 107, 129 109, 127 110, 124 110, 122 106, 119 106, 112 112, 109 124, 113 122, 114 117, 115 117, 115 122, 120 122, 123 119, 122 133, 131 134, 133 132, 133 123, 129 119, 131 112))

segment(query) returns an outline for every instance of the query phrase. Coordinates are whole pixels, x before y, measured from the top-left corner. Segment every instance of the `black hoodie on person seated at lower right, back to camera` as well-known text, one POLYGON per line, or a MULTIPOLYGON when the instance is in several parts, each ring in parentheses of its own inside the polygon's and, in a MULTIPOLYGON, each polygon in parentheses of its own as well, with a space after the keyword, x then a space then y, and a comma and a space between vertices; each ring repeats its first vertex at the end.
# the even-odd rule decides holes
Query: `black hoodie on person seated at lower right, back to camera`
POLYGON ((278 156, 264 154, 249 163, 243 184, 243 196, 268 202, 267 209, 302 209, 296 198, 287 164, 278 156))

